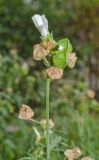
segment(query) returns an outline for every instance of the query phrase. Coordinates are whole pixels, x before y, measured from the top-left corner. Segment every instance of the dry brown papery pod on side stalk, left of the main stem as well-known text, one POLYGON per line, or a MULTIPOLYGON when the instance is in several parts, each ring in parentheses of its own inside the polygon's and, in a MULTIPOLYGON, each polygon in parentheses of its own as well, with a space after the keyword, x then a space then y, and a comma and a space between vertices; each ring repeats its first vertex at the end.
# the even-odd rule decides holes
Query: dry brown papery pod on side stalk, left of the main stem
POLYGON ((33 110, 29 106, 22 104, 22 107, 20 108, 19 111, 19 119, 28 120, 31 119, 33 116, 34 116, 33 110))

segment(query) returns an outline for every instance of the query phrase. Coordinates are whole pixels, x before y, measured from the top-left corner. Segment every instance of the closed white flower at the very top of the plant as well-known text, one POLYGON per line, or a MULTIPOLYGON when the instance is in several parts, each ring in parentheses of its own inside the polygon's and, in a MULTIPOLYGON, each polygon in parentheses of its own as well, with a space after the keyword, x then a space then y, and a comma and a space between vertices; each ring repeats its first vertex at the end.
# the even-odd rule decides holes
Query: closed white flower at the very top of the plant
POLYGON ((47 36, 49 34, 48 31, 48 20, 46 19, 45 15, 39 15, 35 14, 32 17, 32 20, 36 26, 36 28, 39 30, 42 36, 47 36))

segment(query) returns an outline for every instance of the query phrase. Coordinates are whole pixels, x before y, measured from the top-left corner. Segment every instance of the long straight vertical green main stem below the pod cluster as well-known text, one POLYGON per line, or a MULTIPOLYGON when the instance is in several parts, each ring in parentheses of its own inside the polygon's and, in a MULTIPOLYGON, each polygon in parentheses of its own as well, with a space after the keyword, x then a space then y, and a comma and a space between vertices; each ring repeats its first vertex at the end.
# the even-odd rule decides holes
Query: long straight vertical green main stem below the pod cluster
POLYGON ((50 79, 46 81, 46 145, 47 145, 47 160, 50 160, 50 137, 49 137, 49 90, 50 90, 50 79))

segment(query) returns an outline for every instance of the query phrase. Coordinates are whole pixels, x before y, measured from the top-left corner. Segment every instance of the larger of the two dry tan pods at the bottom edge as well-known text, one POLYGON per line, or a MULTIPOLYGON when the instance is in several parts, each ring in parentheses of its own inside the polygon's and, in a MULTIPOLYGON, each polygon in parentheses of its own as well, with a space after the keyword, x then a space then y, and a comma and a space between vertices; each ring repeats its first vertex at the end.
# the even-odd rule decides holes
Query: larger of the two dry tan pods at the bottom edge
POLYGON ((81 155, 81 150, 79 147, 76 147, 74 149, 67 149, 64 155, 68 158, 68 160, 74 160, 81 155))

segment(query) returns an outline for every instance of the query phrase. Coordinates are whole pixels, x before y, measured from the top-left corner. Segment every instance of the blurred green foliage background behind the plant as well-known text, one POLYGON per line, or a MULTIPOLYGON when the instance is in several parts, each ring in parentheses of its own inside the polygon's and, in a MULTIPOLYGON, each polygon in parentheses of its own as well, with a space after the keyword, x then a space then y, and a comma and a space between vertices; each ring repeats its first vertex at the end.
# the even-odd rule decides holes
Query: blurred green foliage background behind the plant
POLYGON ((44 116, 45 68, 32 59, 36 13, 46 15, 55 40, 70 39, 78 57, 51 85, 50 116, 68 146, 99 160, 99 0, 0 0, 0 160, 18 160, 33 143, 31 124, 18 119, 21 104, 44 116))

